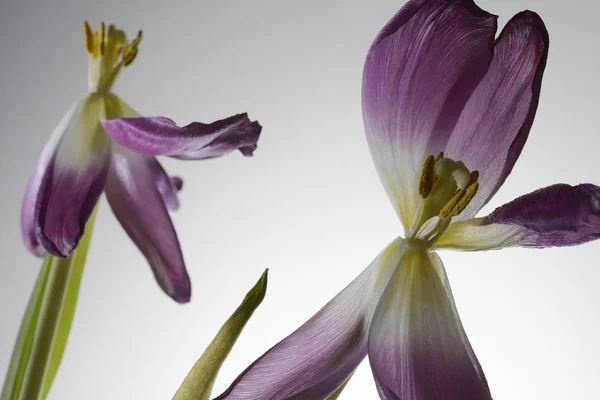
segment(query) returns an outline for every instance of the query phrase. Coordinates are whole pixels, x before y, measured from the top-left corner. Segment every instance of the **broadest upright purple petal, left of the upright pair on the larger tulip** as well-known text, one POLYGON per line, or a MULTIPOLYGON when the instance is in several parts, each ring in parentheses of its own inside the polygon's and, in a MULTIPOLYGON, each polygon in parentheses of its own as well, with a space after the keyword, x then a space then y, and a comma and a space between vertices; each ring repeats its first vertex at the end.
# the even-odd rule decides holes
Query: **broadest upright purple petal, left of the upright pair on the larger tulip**
POLYGON ((492 56, 495 16, 470 0, 413 0, 383 28, 363 72, 363 118, 379 177, 408 229, 421 165, 444 150, 492 56))

